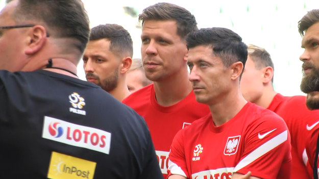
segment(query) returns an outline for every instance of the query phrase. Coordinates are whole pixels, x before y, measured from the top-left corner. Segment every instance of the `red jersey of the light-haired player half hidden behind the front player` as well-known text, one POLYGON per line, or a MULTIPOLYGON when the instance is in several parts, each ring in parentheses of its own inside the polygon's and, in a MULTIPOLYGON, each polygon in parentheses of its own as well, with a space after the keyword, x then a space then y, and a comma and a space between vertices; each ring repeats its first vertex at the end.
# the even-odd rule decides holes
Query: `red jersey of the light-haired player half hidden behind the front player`
POLYGON ((305 146, 306 139, 319 123, 319 110, 310 111, 307 108, 306 96, 283 96, 279 93, 267 109, 281 116, 290 132, 291 179, 311 178, 312 173, 308 172, 312 169, 308 164, 305 146))

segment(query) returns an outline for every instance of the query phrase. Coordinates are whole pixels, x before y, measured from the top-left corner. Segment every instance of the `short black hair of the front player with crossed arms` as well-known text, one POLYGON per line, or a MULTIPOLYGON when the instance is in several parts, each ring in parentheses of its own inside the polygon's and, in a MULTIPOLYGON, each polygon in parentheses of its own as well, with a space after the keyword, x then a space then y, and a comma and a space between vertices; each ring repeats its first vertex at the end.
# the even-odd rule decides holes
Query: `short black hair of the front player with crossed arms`
POLYGON ((205 28, 188 34, 186 38, 187 48, 199 45, 212 47, 212 54, 222 59, 225 67, 235 62, 247 61, 247 45, 235 32, 226 28, 205 28))

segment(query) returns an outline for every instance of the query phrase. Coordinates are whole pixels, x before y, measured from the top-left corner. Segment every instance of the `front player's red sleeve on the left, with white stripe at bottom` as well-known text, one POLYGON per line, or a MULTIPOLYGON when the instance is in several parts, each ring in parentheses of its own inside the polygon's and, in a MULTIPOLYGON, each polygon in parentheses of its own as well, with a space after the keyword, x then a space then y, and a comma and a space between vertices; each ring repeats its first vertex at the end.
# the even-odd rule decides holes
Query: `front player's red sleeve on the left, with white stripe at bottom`
POLYGON ((167 178, 172 174, 179 174, 189 177, 186 166, 185 150, 184 150, 184 130, 180 130, 173 139, 170 146, 169 161, 167 169, 167 178))

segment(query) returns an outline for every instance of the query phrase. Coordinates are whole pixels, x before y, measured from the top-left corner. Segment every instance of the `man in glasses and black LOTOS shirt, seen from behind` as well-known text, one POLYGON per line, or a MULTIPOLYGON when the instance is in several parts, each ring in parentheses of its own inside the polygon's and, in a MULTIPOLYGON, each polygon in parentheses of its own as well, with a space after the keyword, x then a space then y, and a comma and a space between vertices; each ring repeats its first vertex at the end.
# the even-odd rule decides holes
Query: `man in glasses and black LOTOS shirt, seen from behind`
POLYGON ((0 12, 0 178, 162 178, 143 118, 77 78, 89 32, 79 0, 0 12))

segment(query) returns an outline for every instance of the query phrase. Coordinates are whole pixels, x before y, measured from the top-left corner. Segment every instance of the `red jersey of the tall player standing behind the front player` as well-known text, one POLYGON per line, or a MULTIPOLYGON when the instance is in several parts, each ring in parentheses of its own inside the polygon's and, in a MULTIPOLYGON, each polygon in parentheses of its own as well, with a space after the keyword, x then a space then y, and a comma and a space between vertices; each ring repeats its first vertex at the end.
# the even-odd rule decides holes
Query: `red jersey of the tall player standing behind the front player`
POLYGON ((196 101, 193 91, 175 105, 161 106, 156 101, 153 84, 132 93, 122 103, 143 116, 148 124, 164 178, 167 177, 169 147, 176 133, 210 112, 207 105, 196 101))

